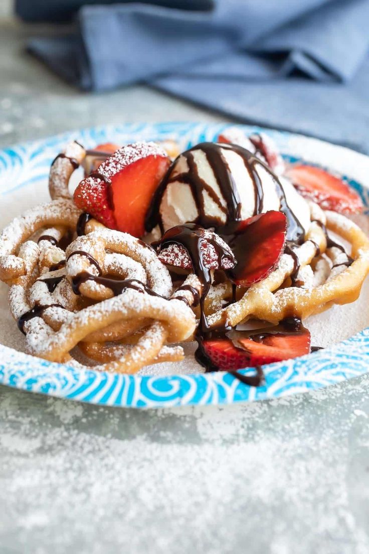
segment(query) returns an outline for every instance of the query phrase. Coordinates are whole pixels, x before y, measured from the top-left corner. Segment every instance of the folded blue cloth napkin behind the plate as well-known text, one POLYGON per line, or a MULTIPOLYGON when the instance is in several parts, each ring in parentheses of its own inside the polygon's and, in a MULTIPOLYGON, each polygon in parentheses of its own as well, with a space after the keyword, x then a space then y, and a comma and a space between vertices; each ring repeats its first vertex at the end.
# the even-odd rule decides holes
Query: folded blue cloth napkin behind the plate
POLYGON ((84 6, 75 35, 35 38, 29 49, 85 90, 144 81, 243 121, 369 151, 369 0, 203 5, 84 6))

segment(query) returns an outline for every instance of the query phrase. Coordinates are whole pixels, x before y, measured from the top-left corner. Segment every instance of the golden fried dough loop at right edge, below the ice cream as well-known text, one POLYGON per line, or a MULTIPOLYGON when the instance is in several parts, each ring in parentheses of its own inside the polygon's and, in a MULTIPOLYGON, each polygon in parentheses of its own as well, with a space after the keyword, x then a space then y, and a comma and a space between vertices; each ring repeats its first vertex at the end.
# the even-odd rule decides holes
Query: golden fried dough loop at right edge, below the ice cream
MULTIPOLYGON (((249 317, 276 324, 284 317, 297 316, 303 319, 328 308, 331 304, 346 304, 357 299, 363 280, 369 273, 369 239, 350 219, 335 212, 321 213, 324 215, 322 223, 326 220, 329 230, 351 244, 353 263, 349 267, 342 265, 340 271, 336 274, 330 273, 328 279, 313 288, 289 286, 279 289, 294 268, 292 257, 283 254, 276 270, 266 279, 252 285, 235 304, 209 315, 208 322, 211 326, 219 324, 224 317, 232 326, 249 317)), ((313 221, 306 242, 294 250, 301 268, 311 263, 316 255, 316 246, 319 247, 320 253, 326 251, 325 234, 320 225, 313 221)), ((327 252, 333 249, 334 247, 327 252)), ((334 253, 330 255, 335 256, 334 253)))

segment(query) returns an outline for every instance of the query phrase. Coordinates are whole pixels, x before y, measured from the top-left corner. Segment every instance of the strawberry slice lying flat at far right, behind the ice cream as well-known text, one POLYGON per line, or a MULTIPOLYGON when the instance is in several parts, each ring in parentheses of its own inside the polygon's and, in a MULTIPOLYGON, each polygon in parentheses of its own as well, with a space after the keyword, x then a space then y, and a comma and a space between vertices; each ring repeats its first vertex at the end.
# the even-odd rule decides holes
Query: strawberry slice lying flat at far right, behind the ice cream
POLYGON ((320 167, 297 164, 288 169, 287 176, 302 196, 323 209, 355 213, 363 208, 360 196, 343 179, 320 167))

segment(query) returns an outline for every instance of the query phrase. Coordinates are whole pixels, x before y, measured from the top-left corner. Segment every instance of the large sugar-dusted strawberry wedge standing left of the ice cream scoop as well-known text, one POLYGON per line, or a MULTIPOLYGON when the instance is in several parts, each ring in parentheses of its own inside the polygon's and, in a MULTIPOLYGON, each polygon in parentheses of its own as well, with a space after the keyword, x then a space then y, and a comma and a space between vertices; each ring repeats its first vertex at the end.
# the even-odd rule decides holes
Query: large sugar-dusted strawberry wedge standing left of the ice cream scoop
POLYGON ((165 151, 153 142, 123 146, 80 182, 74 201, 111 229, 141 237, 145 214, 169 165, 165 151))

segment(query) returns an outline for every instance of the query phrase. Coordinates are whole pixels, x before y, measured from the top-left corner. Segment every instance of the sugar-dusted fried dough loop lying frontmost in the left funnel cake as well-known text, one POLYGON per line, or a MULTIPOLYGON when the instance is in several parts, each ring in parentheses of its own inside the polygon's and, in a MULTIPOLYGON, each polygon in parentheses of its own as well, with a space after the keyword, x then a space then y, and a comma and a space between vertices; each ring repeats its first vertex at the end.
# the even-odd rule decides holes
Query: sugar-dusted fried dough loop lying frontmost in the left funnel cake
MULTIPOLYGON (((195 316, 185 302, 127 289, 119 296, 76 312, 59 331, 49 334, 42 325, 34 324, 34 329, 29 329, 26 337, 28 350, 46 360, 63 362, 72 348, 90 332, 120 320, 142 317, 155 321, 129 352, 119 360, 107 362, 99 368, 134 373, 158 355, 165 341, 185 341, 195 330, 195 316)), ((29 325, 32 326, 36 319, 40 318, 30 321, 29 325)))

